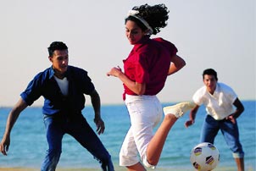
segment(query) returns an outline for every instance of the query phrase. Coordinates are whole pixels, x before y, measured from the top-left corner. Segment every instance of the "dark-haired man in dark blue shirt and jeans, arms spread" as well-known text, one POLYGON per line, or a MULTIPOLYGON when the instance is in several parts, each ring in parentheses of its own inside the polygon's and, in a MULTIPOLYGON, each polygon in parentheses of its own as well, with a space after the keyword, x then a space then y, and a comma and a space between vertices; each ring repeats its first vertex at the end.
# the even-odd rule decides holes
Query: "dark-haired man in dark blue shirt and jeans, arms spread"
POLYGON ((55 170, 61 154, 62 138, 64 134, 69 134, 92 153, 101 163, 102 170, 113 171, 109 152, 81 113, 86 102, 84 95, 89 95, 95 113, 97 134, 104 132, 104 122, 100 115, 100 97, 90 77, 85 70, 68 65, 69 52, 64 42, 54 41, 48 47, 48 52, 52 66, 36 74, 8 114, 6 129, 0 144, 1 152, 7 155, 10 133, 19 113, 42 96, 44 97, 42 113, 49 148, 41 170, 55 170))

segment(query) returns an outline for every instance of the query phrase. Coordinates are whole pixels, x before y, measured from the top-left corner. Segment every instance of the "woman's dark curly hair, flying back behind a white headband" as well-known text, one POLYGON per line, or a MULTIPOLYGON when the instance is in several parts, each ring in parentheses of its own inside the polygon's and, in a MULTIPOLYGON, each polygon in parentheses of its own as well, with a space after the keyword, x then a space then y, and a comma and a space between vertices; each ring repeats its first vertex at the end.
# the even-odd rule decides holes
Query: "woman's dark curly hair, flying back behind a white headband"
MULTIPOLYGON (((144 5, 134 7, 132 10, 139 11, 139 14, 136 14, 136 16, 139 16, 147 21, 148 25, 150 25, 153 29, 153 35, 158 34, 160 32, 160 28, 164 28, 167 25, 167 20, 169 19, 168 14, 170 11, 164 5, 164 3, 153 6, 146 3, 144 5)), ((143 31, 147 30, 147 27, 143 25, 139 19, 136 19, 133 16, 128 16, 125 19, 125 24, 128 20, 136 22, 136 24, 143 31)))

